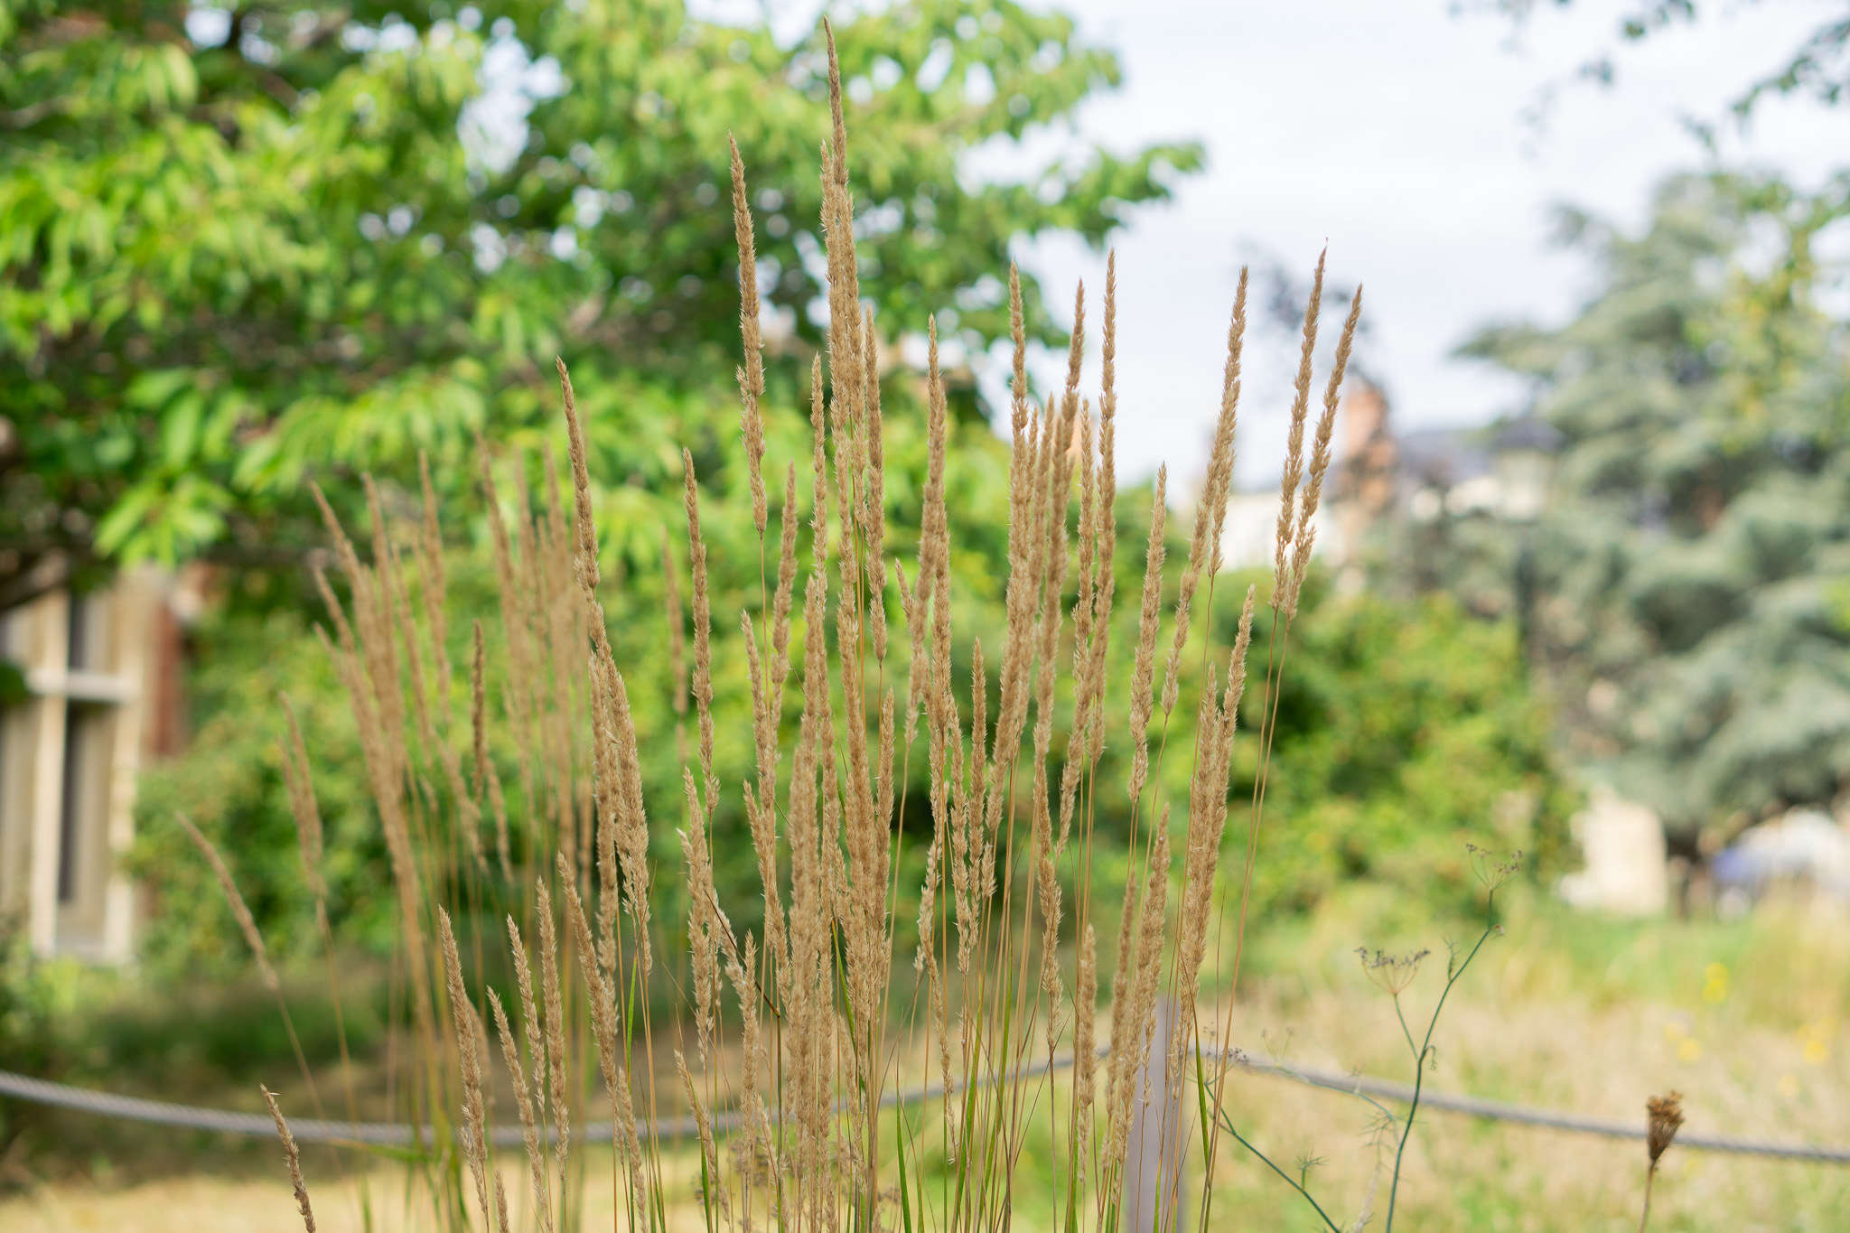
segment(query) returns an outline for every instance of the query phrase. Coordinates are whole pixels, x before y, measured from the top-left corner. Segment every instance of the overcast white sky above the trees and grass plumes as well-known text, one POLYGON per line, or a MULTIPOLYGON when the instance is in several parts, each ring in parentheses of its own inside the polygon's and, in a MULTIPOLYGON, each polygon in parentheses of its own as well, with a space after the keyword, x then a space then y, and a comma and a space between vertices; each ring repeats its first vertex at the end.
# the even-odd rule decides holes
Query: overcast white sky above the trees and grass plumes
MULTIPOLYGON (((696 11, 740 17, 751 0, 696 11)), ((797 35, 814 0, 773 0, 797 35)), ((1402 425, 1482 423, 1515 410, 1521 386, 1452 349, 1493 320, 1561 320, 1589 287, 1578 257, 1548 244, 1550 213, 1576 203, 1635 224, 1667 174, 1708 155, 1684 116, 1722 122, 1730 165, 1778 166, 1806 183, 1850 163, 1850 107, 1769 100, 1743 133, 1726 120, 1743 87, 1782 67, 1830 0, 1704 6, 1637 46, 1617 46, 1632 0, 1539 4, 1513 30, 1458 0, 1058 0, 1082 37, 1114 48, 1121 91, 1088 104, 1084 137, 1128 150, 1201 140, 1206 172, 1177 201, 1138 211, 1119 257, 1119 466, 1171 462, 1193 481, 1219 405, 1227 312, 1241 261, 1276 259, 1308 279, 1330 244, 1330 277, 1365 283, 1369 372, 1402 425), (1565 85, 1537 129, 1524 120, 1550 83, 1617 50, 1610 89, 1565 85)), ((1018 253, 1054 301, 1075 277, 1103 285, 1079 242, 1018 253)), ((1062 314, 1066 309, 1062 309, 1062 314)), ((1093 322, 1097 318, 1093 316, 1093 322)), ((1280 333, 1249 346, 1241 482, 1276 473, 1286 379, 1280 333)), ((1049 377, 1053 372, 1049 370, 1049 377)))

